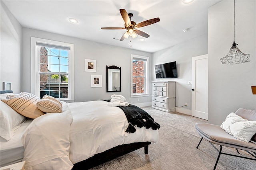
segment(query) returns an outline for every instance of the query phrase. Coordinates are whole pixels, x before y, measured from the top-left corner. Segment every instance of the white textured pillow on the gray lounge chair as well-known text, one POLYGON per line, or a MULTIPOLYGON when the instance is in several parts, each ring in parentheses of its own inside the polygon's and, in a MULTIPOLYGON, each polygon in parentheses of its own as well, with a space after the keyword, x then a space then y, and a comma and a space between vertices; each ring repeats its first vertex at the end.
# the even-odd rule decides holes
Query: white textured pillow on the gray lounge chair
POLYGON ((256 133, 256 121, 248 121, 233 112, 226 117, 220 127, 236 139, 247 143, 256 133))

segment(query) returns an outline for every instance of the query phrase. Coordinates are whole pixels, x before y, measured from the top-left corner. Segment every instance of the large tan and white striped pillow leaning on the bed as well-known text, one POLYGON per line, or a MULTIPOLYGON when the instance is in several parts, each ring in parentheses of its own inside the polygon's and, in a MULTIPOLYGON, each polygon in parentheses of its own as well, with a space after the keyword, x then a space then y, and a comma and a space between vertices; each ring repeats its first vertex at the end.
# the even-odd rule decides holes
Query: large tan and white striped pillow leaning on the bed
POLYGON ((10 96, 9 99, 2 101, 21 115, 31 119, 35 119, 44 114, 36 106, 36 102, 40 101, 40 98, 28 92, 21 92, 20 94, 10 96))

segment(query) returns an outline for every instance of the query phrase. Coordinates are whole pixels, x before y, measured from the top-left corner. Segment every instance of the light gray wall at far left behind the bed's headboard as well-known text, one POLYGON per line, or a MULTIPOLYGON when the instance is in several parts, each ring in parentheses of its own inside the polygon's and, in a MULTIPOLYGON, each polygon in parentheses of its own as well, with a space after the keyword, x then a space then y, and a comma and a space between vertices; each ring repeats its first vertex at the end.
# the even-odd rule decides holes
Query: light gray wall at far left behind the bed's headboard
POLYGON ((3 82, 12 83, 14 93, 21 91, 22 26, 14 18, 5 4, 1 8, 1 52, 0 52, 0 90, 3 82))

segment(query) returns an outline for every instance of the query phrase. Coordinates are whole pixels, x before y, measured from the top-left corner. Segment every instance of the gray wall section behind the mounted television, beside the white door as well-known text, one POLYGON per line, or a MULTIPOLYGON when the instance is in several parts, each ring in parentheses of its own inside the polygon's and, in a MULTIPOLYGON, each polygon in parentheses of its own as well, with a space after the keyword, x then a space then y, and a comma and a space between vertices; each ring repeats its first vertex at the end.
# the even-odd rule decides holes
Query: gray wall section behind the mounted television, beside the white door
POLYGON ((178 78, 156 78, 154 69, 151 72, 152 80, 170 80, 176 81, 176 106, 188 106, 176 108, 177 111, 191 115, 191 68, 192 57, 207 54, 208 52, 208 35, 196 37, 190 41, 180 43, 167 49, 153 53, 152 68, 156 64, 176 61, 178 64, 178 78))

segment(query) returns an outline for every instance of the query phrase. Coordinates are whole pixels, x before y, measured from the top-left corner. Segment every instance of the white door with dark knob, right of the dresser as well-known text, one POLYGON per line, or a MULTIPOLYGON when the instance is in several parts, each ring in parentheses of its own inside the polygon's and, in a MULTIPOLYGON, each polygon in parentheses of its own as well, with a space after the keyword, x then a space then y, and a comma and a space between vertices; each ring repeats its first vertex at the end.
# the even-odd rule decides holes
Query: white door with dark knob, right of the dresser
POLYGON ((208 120, 208 54, 192 57, 192 116, 208 120))

